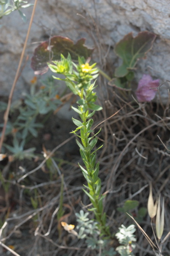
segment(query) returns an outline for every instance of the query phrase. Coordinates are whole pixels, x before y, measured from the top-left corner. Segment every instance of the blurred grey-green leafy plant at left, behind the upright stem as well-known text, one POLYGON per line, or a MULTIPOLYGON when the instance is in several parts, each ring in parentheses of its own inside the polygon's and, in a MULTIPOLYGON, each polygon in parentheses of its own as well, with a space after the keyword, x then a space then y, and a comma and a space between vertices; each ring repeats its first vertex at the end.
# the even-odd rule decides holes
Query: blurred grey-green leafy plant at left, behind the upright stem
MULTIPOLYGON (((52 77, 43 81, 43 85, 39 88, 36 82, 32 82, 30 94, 24 96, 23 101, 13 102, 11 106, 12 115, 19 108, 20 113, 16 120, 7 122, 6 135, 13 135, 13 145, 3 144, 13 154, 14 159, 19 160, 35 157, 33 154, 35 148, 24 149, 24 147, 30 135, 31 137, 37 137, 38 129, 43 127, 42 123, 37 122, 38 116, 51 114, 61 104, 58 99, 57 87, 52 77)), ((1 102, 1 106, 1 110, 4 110, 5 104, 3 102, 1 102)), ((3 127, 3 124, 0 124, 0 126, 3 127)))

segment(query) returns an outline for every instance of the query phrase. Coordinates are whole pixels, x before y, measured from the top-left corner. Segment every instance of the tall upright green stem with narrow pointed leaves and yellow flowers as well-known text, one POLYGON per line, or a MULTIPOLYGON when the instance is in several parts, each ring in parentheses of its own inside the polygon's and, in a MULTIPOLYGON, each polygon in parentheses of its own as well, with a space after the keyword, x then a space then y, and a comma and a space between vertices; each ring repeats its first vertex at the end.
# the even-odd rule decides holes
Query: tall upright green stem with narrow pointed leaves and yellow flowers
POLYGON ((96 63, 90 66, 83 57, 78 58, 78 65, 76 65, 72 62, 70 54, 67 58, 61 54, 61 61, 53 61, 53 64, 48 64, 48 66, 52 72, 65 75, 64 79, 55 76, 53 78, 65 81, 72 93, 79 97, 78 107, 72 107, 72 109, 79 114, 81 121, 72 118, 73 123, 77 126, 72 133, 80 139, 76 141, 85 167, 80 164, 79 167, 87 181, 87 186, 84 185, 85 189, 83 190, 92 202, 93 207, 90 210, 94 212, 98 221, 101 236, 111 237, 103 209, 104 195, 101 195, 101 180, 98 177, 99 162, 96 161, 96 152, 101 147, 94 150, 98 141, 96 135, 100 131, 92 135, 92 116, 96 111, 102 109, 95 103, 97 95, 93 91, 97 87, 93 81, 98 77, 98 68, 95 67, 96 63), (78 134, 78 132, 80 133, 78 134))

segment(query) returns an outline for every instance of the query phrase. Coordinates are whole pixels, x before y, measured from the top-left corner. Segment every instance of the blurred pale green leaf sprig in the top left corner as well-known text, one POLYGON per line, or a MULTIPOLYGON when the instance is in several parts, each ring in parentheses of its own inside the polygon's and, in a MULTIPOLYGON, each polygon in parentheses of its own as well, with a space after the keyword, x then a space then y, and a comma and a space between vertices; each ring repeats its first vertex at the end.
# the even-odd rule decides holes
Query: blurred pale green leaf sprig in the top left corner
POLYGON ((0 0, 0 18, 18 10, 22 20, 26 22, 26 15, 20 9, 30 6, 33 6, 33 4, 28 4, 28 1, 23 0, 0 0))

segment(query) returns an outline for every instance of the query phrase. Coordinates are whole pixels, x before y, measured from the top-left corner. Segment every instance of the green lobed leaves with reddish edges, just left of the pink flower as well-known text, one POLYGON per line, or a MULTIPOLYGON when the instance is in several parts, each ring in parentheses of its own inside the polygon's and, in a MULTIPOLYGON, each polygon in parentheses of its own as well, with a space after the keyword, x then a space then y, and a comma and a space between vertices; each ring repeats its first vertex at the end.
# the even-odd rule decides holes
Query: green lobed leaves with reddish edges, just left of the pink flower
POLYGON ((115 69, 114 78, 109 82, 110 85, 123 90, 131 90, 131 81, 134 78, 133 70, 137 61, 146 58, 155 38, 156 35, 148 31, 140 32, 136 37, 129 33, 116 44, 114 51, 123 63, 115 69))

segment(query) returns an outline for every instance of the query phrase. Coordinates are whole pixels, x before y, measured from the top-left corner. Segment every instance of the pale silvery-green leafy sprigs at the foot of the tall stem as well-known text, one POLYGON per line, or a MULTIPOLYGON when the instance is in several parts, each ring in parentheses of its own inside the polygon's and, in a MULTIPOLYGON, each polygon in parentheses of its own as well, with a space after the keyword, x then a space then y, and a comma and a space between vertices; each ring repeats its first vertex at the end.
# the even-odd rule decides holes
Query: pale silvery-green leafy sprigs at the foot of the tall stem
POLYGON ((135 226, 132 224, 128 228, 121 225, 116 237, 118 242, 121 244, 116 248, 116 250, 111 247, 111 240, 102 239, 100 236, 100 230, 98 229, 98 222, 89 219, 89 213, 80 210, 79 213, 76 213, 78 225, 78 238, 85 239, 85 243, 88 248, 98 249, 101 252, 102 256, 113 256, 117 252, 121 256, 134 256, 133 251, 136 247, 136 237, 134 235, 135 226), (116 252, 117 251, 117 252, 116 252))

